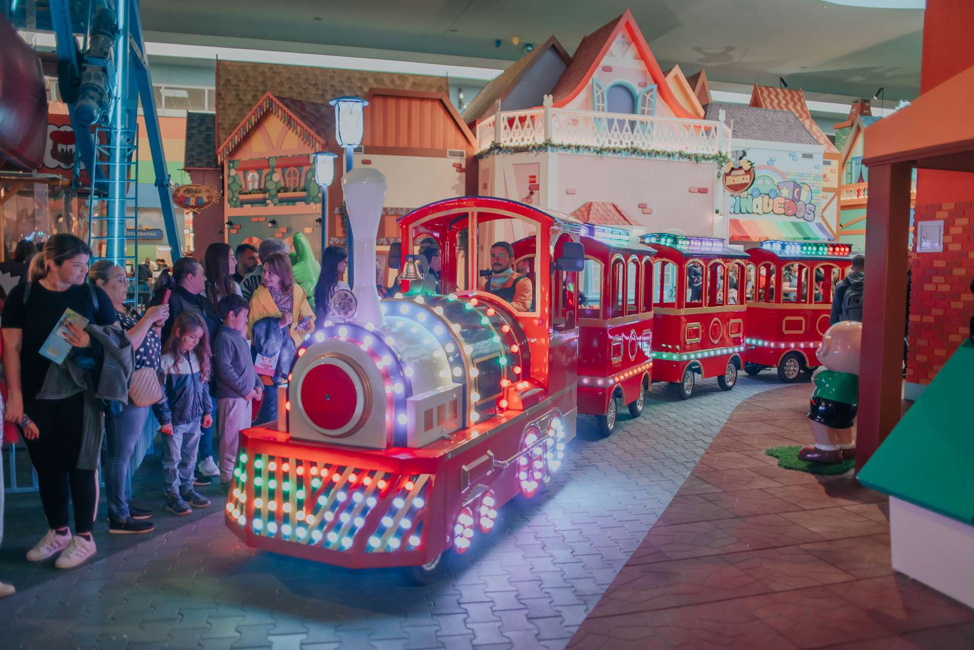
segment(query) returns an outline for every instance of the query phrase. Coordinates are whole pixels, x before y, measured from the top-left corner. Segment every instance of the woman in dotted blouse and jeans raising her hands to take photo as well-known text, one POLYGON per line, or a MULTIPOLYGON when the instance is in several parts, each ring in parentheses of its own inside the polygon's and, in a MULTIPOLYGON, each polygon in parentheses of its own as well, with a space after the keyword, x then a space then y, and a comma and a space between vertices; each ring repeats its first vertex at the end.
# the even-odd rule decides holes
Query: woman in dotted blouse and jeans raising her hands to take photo
MULTIPOLYGON (((129 294, 129 276, 125 269, 108 260, 100 260, 88 271, 88 281, 104 289, 115 307, 119 324, 129 336, 134 351, 135 370, 149 368, 159 371, 162 344, 159 334, 163 322, 169 318, 169 305, 149 307, 139 317, 138 313, 126 305, 129 294)), ((148 406, 136 406, 131 400, 123 405, 122 411, 105 413, 105 442, 108 458, 103 471, 108 500, 108 532, 116 534, 145 533, 155 529, 156 524, 147 522, 153 516, 151 510, 136 508, 127 496, 129 460, 142 428, 149 416, 148 406)))

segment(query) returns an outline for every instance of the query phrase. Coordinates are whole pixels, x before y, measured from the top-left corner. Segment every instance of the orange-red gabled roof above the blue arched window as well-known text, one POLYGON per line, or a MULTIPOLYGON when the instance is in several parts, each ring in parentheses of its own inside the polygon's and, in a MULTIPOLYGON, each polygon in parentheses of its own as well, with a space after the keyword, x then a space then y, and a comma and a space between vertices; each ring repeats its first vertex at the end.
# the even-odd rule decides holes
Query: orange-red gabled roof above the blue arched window
POLYGON ((659 93, 659 96, 670 106, 676 117, 693 119, 695 116, 683 107, 673 94, 673 91, 670 90, 669 84, 666 82, 666 77, 663 75, 659 63, 656 62, 656 57, 650 51, 650 46, 646 43, 646 39, 643 38, 643 33, 639 30, 639 26, 636 25, 636 21, 632 18, 632 13, 628 9, 625 10, 622 16, 610 20, 581 39, 578 49, 572 56, 572 63, 551 90, 554 107, 561 108, 565 106, 585 88, 591 81, 592 75, 595 74, 599 62, 609 52, 609 48, 616 42, 616 38, 623 29, 627 30, 630 38, 632 38, 636 52, 639 53, 640 58, 650 72, 650 76, 653 78, 654 83, 656 83, 656 91, 659 93))

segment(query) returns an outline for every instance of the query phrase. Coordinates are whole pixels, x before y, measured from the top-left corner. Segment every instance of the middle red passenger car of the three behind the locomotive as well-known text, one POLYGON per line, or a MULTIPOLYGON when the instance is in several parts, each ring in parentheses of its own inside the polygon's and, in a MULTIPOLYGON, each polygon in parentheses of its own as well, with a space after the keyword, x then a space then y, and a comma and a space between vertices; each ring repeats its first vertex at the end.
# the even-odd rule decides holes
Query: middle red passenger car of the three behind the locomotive
POLYGON ((723 239, 643 235, 656 249, 653 277, 653 375, 682 399, 696 377, 717 378, 724 390, 743 366, 747 306, 740 287, 748 255, 723 239))

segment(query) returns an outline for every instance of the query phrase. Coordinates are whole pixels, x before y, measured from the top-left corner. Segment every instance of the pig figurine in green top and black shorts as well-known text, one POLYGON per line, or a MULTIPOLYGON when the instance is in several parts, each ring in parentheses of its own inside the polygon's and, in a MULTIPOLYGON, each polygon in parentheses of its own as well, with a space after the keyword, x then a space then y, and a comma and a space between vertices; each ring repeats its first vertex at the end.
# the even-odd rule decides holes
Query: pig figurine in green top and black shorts
POLYGON ((859 351, 862 348, 862 323, 844 320, 822 337, 815 355, 822 366, 811 376, 808 419, 815 444, 799 451, 802 460, 837 463, 855 457, 852 425, 859 399, 859 351))

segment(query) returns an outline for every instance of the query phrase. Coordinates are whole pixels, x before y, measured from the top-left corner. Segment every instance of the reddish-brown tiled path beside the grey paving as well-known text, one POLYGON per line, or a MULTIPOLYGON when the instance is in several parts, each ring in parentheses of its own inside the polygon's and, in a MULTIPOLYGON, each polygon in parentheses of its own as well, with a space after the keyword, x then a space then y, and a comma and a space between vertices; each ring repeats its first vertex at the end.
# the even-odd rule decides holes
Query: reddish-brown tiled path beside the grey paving
POLYGON ((808 392, 737 407, 569 648, 974 649, 974 610, 890 567, 883 494, 765 455, 812 440, 808 392))

